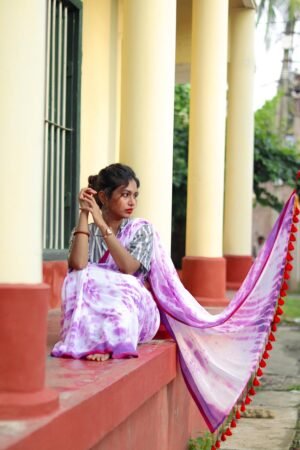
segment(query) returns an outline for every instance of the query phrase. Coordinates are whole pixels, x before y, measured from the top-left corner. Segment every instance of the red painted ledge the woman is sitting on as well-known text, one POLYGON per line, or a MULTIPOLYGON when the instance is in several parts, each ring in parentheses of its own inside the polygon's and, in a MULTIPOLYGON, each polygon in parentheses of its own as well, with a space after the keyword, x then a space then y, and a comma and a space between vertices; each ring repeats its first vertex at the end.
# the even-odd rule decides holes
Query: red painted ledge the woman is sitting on
POLYGON ((176 377, 175 344, 139 347, 139 358, 47 360, 48 386, 59 392, 57 412, 30 421, 0 421, 0 449, 90 449, 176 377), (7 430, 7 434, 5 431, 7 430))

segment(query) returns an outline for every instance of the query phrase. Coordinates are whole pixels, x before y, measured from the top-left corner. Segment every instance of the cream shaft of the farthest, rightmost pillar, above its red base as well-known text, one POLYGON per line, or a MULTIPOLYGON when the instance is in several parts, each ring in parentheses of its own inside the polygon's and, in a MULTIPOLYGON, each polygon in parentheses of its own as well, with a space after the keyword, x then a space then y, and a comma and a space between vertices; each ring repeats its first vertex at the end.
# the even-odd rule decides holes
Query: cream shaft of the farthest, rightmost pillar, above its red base
POLYGON ((255 11, 230 13, 224 254, 251 255, 255 11))

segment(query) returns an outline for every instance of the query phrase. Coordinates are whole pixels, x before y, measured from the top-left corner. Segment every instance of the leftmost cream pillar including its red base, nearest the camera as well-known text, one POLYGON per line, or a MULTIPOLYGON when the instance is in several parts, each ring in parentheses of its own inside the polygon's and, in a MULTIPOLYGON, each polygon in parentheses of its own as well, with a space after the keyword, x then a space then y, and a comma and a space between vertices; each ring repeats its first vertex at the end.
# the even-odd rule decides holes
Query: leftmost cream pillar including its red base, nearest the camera
POLYGON ((49 286, 41 282, 46 15, 46 1, 0 2, 1 420, 40 417, 59 404, 57 392, 44 387, 49 307, 49 286))

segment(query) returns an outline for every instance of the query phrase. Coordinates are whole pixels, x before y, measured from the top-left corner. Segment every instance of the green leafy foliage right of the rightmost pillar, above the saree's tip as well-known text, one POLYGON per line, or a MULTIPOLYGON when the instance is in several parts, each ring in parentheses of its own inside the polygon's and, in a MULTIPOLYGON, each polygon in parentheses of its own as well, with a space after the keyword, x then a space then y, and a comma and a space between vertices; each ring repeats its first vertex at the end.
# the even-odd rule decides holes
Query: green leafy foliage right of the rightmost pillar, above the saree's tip
MULTIPOLYGON (((294 186, 300 157, 294 143, 289 143, 276 131, 276 111, 280 95, 267 101, 255 113, 254 179, 253 189, 256 201, 280 211, 282 203, 266 183, 294 186)), ((283 126, 283 125, 282 125, 283 126)))

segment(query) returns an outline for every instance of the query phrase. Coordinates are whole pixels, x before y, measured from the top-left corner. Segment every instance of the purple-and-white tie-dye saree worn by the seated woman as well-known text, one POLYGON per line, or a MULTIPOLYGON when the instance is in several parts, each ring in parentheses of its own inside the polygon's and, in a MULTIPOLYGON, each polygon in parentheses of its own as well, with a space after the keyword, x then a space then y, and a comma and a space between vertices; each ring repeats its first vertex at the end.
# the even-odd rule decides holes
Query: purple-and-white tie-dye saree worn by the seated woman
MULTIPOLYGON (((177 343, 186 384, 208 428, 215 431, 247 395, 268 343, 278 297, 285 295, 295 198, 292 194, 243 285, 217 315, 184 288, 156 232, 148 276, 155 302, 138 276, 118 272, 110 255, 102 264, 70 272, 63 287, 61 341, 52 355, 137 356, 137 344, 155 335, 160 313, 177 343)), ((125 247, 145 223, 134 219, 124 227, 118 237, 125 247)))

